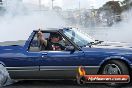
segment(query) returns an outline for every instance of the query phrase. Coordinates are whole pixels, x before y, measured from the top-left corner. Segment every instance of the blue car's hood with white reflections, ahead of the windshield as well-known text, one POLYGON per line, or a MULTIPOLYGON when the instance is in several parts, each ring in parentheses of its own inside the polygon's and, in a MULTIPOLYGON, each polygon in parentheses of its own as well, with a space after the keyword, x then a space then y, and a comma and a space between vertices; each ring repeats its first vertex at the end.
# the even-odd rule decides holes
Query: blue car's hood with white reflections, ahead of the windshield
POLYGON ((132 44, 121 43, 121 42, 102 42, 101 44, 83 47, 83 51, 93 50, 104 51, 104 52, 129 52, 132 53, 132 44))

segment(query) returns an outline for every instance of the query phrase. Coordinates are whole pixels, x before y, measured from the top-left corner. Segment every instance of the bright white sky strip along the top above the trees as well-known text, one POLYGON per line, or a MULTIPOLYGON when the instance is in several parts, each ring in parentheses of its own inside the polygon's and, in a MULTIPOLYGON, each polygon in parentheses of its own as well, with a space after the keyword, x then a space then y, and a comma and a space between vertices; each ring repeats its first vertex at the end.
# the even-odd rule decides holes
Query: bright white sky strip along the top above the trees
MULTIPOLYGON (((52 0, 23 0, 27 3, 38 4, 41 1, 42 5, 51 7, 52 0)), ((99 8, 107 1, 110 0, 54 0, 54 6, 60 6, 62 9, 74 9, 79 8, 99 8)), ((123 1, 123 0, 114 0, 114 1, 123 1)))

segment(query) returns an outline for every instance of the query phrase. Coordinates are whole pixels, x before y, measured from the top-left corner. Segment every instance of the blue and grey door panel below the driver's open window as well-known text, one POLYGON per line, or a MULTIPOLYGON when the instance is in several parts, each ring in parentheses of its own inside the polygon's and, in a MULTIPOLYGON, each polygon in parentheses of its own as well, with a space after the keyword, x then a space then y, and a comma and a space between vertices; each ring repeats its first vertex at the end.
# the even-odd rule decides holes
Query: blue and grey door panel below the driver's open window
POLYGON ((40 71, 44 78, 75 78, 78 66, 83 62, 83 51, 41 52, 40 71))

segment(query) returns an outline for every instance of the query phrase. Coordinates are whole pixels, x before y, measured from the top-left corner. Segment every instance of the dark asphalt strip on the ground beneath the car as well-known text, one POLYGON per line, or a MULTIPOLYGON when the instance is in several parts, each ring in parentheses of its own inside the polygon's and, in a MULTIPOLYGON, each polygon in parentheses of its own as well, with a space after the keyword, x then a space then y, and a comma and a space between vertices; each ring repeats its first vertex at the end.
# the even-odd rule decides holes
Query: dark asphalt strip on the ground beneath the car
MULTIPOLYGON (((104 84, 78 85, 73 80, 28 80, 19 81, 3 88, 115 88, 104 84)), ((132 88, 132 83, 119 88, 132 88)))

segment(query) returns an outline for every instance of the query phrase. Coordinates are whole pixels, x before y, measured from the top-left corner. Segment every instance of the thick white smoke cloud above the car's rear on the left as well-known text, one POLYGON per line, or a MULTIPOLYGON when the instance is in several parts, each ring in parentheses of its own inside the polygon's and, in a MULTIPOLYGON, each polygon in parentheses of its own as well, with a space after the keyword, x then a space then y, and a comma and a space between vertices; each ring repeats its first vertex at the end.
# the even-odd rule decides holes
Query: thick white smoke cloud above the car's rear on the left
POLYGON ((27 40, 32 30, 65 26, 65 22, 56 12, 40 11, 39 6, 21 1, 4 1, 6 11, 0 16, 0 42, 27 40))

